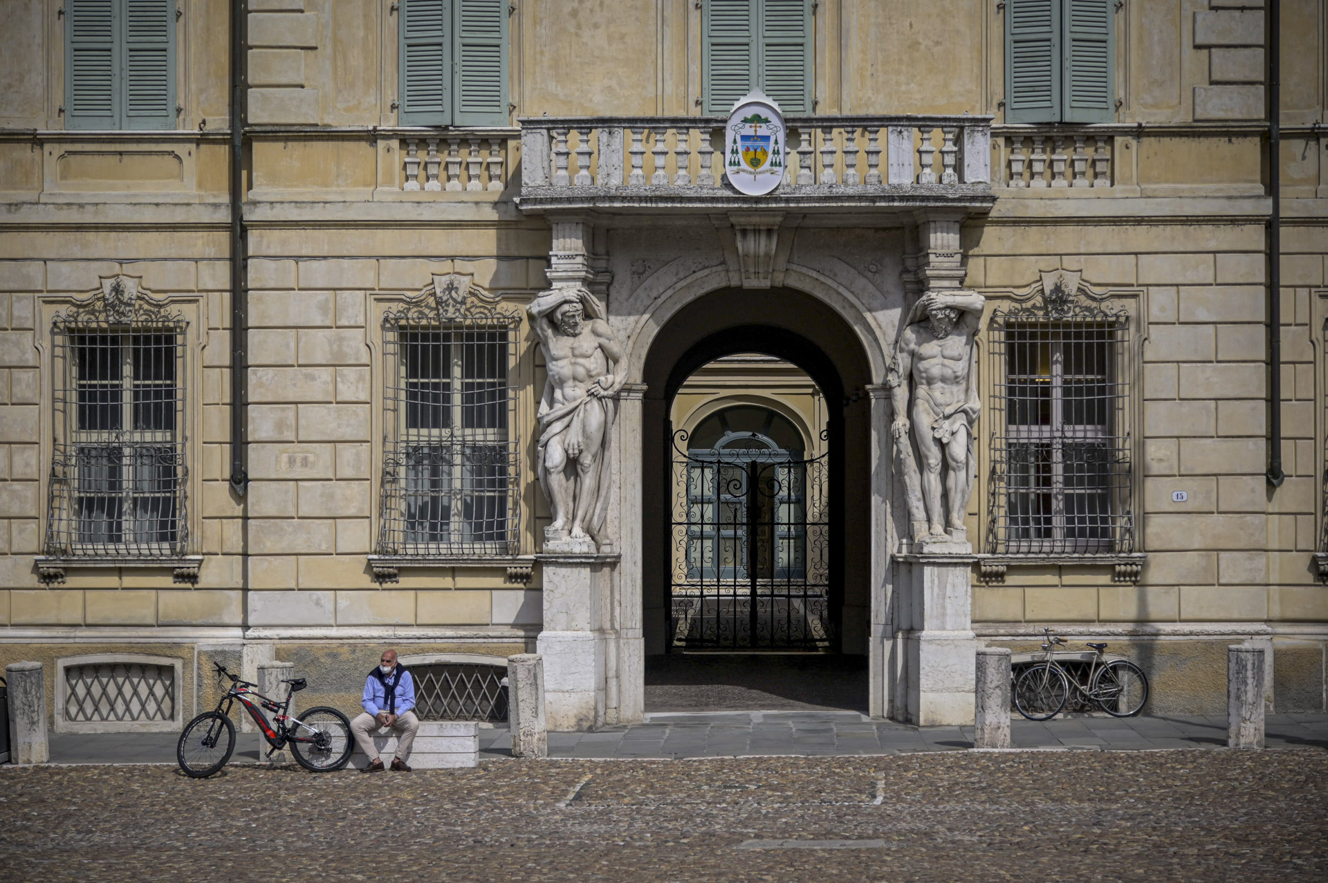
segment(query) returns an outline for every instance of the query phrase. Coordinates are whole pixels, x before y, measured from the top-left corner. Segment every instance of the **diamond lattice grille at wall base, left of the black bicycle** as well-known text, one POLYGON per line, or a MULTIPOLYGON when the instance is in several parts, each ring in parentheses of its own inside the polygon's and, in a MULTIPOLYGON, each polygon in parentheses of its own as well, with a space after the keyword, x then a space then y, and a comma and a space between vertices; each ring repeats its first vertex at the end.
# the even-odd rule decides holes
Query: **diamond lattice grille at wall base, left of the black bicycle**
POLYGON ((175 668, 141 663, 97 663, 65 668, 65 720, 171 721, 175 668))

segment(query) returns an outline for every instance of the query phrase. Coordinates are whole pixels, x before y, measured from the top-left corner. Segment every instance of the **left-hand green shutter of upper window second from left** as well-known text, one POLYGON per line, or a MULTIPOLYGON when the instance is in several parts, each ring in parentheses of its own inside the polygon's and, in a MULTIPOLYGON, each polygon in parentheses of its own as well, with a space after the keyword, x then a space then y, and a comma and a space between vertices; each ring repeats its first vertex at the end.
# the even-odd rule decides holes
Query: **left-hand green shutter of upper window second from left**
POLYGON ((400 121, 404 126, 452 122, 452 0, 402 0, 400 121))

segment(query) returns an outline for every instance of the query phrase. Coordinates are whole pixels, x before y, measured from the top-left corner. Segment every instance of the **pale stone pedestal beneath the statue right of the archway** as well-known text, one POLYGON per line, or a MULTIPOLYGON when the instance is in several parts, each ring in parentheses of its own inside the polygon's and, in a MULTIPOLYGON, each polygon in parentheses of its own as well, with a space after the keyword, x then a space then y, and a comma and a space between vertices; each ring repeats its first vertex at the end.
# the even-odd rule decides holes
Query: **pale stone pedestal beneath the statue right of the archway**
POLYGON ((895 559, 900 564, 904 720, 919 726, 972 725, 977 655, 972 547, 938 542, 895 559))

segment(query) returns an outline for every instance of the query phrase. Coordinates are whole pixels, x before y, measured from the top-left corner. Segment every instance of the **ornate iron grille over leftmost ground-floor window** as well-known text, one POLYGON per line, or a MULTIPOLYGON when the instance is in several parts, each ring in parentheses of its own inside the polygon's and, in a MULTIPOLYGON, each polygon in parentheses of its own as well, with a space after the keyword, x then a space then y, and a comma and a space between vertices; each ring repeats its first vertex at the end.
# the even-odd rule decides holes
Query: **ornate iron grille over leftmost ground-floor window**
POLYGON ((183 555, 189 323, 117 279, 52 323, 48 555, 183 555))

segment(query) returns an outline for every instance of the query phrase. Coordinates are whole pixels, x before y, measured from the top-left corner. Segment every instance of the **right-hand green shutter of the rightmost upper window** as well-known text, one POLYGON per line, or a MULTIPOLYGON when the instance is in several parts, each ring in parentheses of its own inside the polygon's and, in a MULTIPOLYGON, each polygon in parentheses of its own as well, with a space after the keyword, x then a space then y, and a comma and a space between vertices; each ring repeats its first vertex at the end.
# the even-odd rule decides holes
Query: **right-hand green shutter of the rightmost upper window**
POLYGON ((1116 120, 1116 44, 1113 0, 1065 0, 1065 122, 1116 120))

